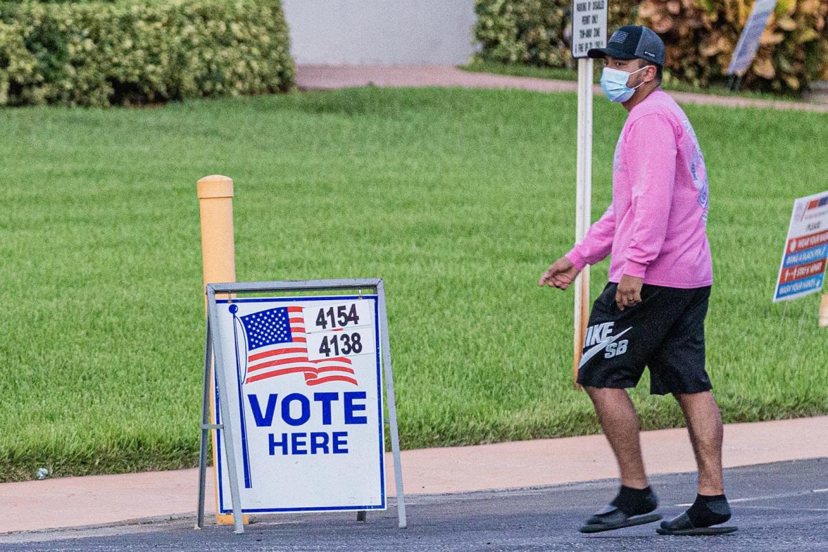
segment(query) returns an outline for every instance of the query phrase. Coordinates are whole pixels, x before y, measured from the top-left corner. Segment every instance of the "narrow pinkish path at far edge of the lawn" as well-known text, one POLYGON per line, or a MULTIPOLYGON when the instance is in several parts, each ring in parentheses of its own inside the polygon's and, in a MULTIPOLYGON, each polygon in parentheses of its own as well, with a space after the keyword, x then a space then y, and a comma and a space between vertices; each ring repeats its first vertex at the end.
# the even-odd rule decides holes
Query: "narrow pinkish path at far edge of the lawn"
MULTIPOLYGON (((523 89, 535 92, 576 92, 578 89, 578 84, 575 81, 473 73, 451 65, 298 65, 296 67, 296 86, 299 89, 341 89, 368 84, 387 87, 447 86, 480 89, 523 89)), ((595 86, 595 94, 601 94, 598 86, 595 86)), ((769 99, 672 91, 669 94, 679 103, 828 113, 828 105, 819 103, 782 102, 769 99)))

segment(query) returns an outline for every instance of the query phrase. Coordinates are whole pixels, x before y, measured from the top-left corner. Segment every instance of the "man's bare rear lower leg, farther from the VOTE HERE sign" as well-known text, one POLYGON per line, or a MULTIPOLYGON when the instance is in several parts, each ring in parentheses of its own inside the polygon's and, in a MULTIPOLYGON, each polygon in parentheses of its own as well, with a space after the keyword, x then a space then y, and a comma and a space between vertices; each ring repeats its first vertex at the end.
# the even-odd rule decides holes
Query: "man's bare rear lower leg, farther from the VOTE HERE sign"
POLYGON ((710 391, 675 393, 687 420, 687 431, 699 467, 699 494, 724 494, 722 479, 722 417, 710 391))

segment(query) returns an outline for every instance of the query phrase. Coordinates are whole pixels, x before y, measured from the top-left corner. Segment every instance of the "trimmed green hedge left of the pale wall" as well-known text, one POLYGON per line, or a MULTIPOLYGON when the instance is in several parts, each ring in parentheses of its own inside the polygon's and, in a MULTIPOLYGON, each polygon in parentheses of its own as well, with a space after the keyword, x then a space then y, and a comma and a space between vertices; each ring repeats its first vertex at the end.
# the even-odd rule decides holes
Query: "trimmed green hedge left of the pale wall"
POLYGON ((0 2, 0 105, 262 94, 293 74, 280 0, 0 2))

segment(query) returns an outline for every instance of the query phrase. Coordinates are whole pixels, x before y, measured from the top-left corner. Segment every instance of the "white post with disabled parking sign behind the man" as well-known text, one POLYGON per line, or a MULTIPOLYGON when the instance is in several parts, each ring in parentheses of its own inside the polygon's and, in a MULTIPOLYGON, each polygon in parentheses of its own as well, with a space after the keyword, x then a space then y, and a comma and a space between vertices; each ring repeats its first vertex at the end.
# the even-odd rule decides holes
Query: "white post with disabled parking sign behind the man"
MULTIPOLYGON (((572 57, 578 60, 578 154, 575 192, 575 242, 584 239, 592 212, 592 71, 590 48, 606 46, 607 1, 572 2, 572 57)), ((575 281, 575 332, 573 377, 578 377, 581 351, 590 318, 590 266, 575 281)), ((575 384, 576 388, 578 387, 575 384)))

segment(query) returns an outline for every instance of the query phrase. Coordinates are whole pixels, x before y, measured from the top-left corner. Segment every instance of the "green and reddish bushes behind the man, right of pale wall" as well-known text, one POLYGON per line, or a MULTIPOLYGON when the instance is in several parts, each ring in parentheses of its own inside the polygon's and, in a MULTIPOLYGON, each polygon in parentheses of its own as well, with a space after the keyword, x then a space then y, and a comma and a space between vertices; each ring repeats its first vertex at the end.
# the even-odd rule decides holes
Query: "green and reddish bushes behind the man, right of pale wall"
MULTIPOLYGON (((730 55, 753 0, 619 0, 609 2, 609 31, 647 25, 667 45, 667 79, 696 86, 723 83, 730 55)), ((477 60, 551 68, 574 67, 567 26, 570 0, 475 0, 477 60)), ((748 89, 796 93, 828 78, 828 2, 779 0, 748 89)))

